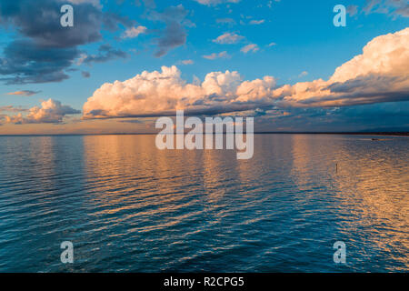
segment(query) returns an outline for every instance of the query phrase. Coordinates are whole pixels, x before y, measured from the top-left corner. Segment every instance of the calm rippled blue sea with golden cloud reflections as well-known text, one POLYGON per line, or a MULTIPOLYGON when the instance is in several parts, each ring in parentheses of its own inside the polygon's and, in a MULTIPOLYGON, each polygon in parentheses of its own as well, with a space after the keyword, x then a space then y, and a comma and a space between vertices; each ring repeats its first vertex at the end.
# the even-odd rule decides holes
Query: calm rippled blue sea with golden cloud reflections
POLYGON ((371 137, 255 135, 237 160, 155 135, 0 136, 0 271, 407 272, 409 138, 371 137))

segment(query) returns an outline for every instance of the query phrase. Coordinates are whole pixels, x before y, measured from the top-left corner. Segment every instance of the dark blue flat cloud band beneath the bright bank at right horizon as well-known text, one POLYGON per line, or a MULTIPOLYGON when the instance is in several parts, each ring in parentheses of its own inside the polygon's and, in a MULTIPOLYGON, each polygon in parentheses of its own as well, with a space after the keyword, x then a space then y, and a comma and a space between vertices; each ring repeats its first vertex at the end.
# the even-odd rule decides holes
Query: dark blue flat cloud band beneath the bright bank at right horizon
POLYGON ((254 129, 258 132, 382 132, 409 129, 407 101, 327 108, 273 108, 258 110, 253 115, 259 116, 254 119, 254 129))

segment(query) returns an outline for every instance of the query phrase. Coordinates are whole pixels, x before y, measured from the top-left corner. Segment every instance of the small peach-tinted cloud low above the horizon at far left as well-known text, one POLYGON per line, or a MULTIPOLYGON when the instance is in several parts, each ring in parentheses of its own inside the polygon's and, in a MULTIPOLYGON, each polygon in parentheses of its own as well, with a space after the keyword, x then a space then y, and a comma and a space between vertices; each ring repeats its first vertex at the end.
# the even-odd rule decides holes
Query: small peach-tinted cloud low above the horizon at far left
POLYGON ((5 116, 5 123, 16 125, 22 124, 59 124, 63 122, 65 115, 79 114, 81 111, 75 110, 68 105, 62 105, 61 102, 48 99, 41 103, 41 107, 35 106, 27 110, 26 115, 5 116))

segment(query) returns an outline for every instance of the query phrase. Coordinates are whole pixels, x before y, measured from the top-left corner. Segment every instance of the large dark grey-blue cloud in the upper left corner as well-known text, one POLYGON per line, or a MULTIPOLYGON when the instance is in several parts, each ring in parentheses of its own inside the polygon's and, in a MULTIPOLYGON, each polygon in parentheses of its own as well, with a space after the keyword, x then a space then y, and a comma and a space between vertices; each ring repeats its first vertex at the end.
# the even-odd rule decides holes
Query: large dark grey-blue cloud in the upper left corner
MULTIPOLYGON (((5 46, 0 55, 0 78, 6 84, 60 82, 69 76, 70 66, 79 57, 78 45, 102 39, 102 27, 115 30, 118 25, 128 27, 134 21, 103 13, 90 3, 73 5, 74 26, 60 24, 62 0, 0 1, 0 25, 15 28, 17 38, 5 46)), ((69 2, 68 2, 69 4, 69 2)), ((104 62, 124 57, 121 51, 110 50, 88 62, 104 62)))

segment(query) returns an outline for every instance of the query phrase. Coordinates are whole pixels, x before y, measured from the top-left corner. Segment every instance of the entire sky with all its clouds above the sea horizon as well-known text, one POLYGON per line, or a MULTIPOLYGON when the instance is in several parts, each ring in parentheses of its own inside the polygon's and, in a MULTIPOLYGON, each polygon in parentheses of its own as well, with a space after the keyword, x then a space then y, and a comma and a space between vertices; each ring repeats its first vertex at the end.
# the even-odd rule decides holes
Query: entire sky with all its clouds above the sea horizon
POLYGON ((409 131, 409 4, 0 0, 0 135, 151 133, 177 109, 255 131, 409 131))

